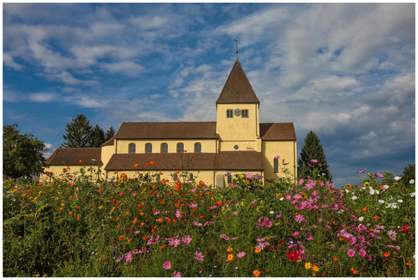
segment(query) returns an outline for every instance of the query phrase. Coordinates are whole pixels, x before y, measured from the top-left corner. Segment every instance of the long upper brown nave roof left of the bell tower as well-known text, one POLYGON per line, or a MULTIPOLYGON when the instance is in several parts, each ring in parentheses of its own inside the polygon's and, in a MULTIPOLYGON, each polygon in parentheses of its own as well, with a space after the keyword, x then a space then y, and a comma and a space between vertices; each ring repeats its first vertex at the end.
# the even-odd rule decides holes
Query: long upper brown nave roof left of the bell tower
POLYGON ((216 122, 122 123, 115 139, 215 139, 216 122))

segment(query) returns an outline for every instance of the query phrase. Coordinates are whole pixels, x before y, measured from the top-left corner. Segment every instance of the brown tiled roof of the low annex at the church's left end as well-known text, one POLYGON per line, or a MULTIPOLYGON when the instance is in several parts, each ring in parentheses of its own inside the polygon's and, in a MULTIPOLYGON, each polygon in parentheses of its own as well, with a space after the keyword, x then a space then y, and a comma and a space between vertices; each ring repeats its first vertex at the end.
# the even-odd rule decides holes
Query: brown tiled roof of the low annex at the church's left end
POLYGON ((99 165, 101 148, 58 148, 45 161, 45 165, 99 165))

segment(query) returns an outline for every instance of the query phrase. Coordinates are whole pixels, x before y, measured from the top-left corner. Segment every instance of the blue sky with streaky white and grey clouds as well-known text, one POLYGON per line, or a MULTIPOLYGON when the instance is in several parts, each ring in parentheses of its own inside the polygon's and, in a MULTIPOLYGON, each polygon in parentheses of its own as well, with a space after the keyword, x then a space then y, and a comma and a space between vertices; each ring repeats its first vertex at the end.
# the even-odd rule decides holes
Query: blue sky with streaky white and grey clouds
POLYGON ((4 3, 3 122, 53 153, 83 113, 214 121, 239 60, 261 123, 312 130, 341 186, 415 162, 414 3, 4 3))

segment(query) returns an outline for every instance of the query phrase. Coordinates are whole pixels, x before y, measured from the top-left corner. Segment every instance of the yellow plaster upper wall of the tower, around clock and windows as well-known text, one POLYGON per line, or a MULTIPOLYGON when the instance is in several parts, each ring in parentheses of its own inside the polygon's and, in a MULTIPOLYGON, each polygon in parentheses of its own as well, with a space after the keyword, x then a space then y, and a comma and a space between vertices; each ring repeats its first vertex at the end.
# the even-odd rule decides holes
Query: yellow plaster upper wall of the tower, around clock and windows
POLYGON ((216 133, 221 141, 256 141, 259 134, 258 104, 217 104, 216 133), (227 109, 248 109, 248 118, 227 118, 227 109))

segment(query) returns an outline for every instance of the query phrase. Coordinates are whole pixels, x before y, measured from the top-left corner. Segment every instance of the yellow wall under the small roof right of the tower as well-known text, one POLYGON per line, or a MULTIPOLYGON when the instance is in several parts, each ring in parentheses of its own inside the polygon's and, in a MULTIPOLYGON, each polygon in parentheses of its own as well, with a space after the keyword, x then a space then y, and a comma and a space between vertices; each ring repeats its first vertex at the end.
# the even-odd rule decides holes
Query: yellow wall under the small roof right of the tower
POLYGON ((296 141, 262 141, 262 160, 264 167, 264 177, 266 179, 278 179, 284 175, 281 171, 283 168, 282 160, 285 163, 290 175, 295 180, 297 176, 297 146, 296 141), (274 173, 274 157, 280 155, 278 159, 278 173, 274 173), (295 167, 293 167, 295 165, 295 167))

